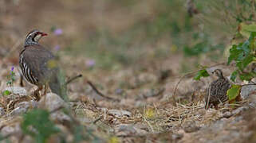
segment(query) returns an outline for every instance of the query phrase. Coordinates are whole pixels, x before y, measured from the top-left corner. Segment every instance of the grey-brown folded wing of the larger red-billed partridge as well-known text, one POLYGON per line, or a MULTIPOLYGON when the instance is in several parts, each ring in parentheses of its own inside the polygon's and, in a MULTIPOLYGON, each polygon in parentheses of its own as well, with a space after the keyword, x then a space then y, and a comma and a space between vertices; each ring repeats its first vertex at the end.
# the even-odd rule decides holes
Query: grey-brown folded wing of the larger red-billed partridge
POLYGON ((41 45, 31 45, 21 53, 24 62, 30 68, 32 75, 36 77, 40 83, 45 83, 56 71, 57 62, 52 52, 49 52, 41 45))

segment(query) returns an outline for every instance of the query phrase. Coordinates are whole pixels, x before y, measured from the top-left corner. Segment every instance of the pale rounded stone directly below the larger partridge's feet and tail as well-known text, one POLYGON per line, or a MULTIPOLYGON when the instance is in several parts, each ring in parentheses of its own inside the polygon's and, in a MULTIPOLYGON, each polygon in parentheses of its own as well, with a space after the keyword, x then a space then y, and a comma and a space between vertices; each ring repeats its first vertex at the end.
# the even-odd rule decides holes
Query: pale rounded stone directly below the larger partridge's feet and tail
POLYGON ((61 106, 67 106, 67 104, 63 99, 61 99, 60 96, 53 93, 48 93, 47 95, 41 97, 38 106, 52 112, 53 110, 61 108, 61 106))

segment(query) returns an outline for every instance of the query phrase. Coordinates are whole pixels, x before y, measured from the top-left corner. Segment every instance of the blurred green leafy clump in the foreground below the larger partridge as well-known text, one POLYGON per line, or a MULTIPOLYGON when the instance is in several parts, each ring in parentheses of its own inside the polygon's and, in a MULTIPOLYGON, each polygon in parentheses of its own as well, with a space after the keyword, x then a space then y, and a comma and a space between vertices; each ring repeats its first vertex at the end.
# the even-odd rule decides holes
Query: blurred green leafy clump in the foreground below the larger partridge
POLYGON ((33 137, 35 142, 43 143, 53 134, 60 132, 52 121, 49 120, 47 110, 31 110, 23 116, 22 131, 33 137))

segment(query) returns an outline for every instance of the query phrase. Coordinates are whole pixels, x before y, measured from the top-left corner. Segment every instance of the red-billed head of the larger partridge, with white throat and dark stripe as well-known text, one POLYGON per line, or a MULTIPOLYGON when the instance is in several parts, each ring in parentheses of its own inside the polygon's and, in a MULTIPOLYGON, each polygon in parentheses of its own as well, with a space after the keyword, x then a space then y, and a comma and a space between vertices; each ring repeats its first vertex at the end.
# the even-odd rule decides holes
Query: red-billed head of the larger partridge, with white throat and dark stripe
POLYGON ((25 40, 25 47, 33 44, 38 44, 38 41, 41 39, 41 37, 47 36, 47 33, 42 33, 37 29, 32 30, 28 35, 26 36, 25 40))

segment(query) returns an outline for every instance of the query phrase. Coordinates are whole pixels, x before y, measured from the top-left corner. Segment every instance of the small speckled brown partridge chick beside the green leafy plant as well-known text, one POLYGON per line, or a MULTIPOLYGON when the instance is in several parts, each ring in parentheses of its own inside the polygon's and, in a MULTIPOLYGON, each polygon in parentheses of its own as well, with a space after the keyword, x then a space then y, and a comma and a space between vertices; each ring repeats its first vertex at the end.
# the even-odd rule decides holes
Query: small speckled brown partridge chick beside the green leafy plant
POLYGON ((215 106, 215 109, 218 109, 220 102, 226 102, 226 91, 231 87, 230 81, 223 76, 222 70, 215 69, 212 73, 217 75, 219 79, 213 81, 208 88, 208 94, 205 95, 205 109, 209 109, 211 104, 215 106))

